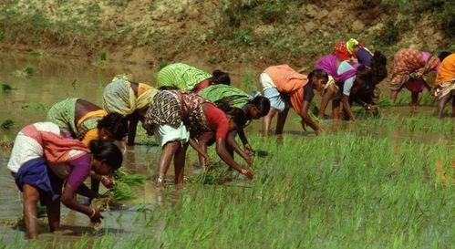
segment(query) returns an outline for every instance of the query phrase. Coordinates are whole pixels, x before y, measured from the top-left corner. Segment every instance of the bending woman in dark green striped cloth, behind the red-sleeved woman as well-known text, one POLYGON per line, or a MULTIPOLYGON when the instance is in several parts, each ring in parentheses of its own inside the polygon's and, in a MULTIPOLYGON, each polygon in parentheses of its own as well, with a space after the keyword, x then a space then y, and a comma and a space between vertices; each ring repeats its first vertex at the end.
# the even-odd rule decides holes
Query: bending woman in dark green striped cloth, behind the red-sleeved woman
MULTIPOLYGON (((269 99, 262 96, 256 96, 253 98, 253 96, 247 94, 243 90, 232 86, 212 85, 207 88, 203 88, 199 92, 199 95, 204 99, 211 101, 222 110, 231 108, 242 109, 247 122, 264 117, 270 110, 269 99)), ((243 127, 240 127, 236 130, 236 132, 230 133, 229 137, 232 137, 230 139, 234 139, 237 133, 239 134, 240 140, 242 140, 245 152, 253 152, 253 149, 246 138, 243 127)))

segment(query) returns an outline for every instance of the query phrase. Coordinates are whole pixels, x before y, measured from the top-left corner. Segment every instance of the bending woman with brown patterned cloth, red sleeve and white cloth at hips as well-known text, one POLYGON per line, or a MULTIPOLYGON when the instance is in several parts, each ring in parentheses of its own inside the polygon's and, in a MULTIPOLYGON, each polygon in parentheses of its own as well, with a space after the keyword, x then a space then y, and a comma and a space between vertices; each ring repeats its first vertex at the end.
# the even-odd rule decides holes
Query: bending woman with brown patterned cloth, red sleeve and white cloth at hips
MULTIPOLYGON (((243 114, 241 110, 240 113, 243 114)), ((197 139, 203 132, 208 131, 216 134, 216 151, 222 161, 252 179, 253 172, 244 169, 234 161, 226 149, 227 133, 236 130, 237 126, 243 125, 243 116, 226 115, 221 109, 217 109, 196 93, 179 90, 160 91, 153 99, 144 122, 146 130, 150 134, 154 134, 162 147, 157 185, 164 184, 172 157, 174 158, 175 182, 183 183, 188 142, 207 158, 200 146, 191 138, 197 139)))

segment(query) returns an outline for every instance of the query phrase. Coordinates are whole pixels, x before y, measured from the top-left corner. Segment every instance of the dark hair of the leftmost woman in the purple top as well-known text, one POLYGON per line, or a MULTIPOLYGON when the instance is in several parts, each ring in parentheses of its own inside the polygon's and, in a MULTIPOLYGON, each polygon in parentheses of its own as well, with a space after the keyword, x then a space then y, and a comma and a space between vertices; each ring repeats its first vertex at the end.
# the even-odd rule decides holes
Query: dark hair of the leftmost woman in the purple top
POLYGON ((109 168, 116 171, 120 168, 123 156, 119 146, 111 141, 91 140, 89 144, 93 158, 98 161, 105 161, 109 168))

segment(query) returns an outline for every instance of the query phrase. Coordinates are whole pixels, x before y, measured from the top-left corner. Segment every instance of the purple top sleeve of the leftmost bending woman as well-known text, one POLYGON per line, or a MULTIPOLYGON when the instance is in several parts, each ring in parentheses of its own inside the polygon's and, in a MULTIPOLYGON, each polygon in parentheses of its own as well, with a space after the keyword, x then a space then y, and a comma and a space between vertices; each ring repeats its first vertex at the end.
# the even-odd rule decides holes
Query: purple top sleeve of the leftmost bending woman
POLYGON ((73 161, 69 161, 71 171, 67 177, 67 183, 73 190, 77 190, 80 184, 86 180, 91 170, 90 154, 86 153, 73 161))

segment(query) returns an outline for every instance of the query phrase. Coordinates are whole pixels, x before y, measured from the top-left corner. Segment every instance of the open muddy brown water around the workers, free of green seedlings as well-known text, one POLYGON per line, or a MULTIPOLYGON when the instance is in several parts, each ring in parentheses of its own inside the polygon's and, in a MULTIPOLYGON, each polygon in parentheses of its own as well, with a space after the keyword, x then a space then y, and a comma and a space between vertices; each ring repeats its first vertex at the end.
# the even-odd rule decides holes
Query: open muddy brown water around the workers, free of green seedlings
MULTIPOLYGON (((154 85, 156 69, 138 65, 108 65, 105 68, 95 67, 88 61, 69 59, 69 58, 31 58, 27 55, 13 57, 12 55, 0 55, 0 83, 6 83, 16 88, 11 93, 0 92, 0 122, 5 119, 13 119, 15 126, 11 130, 0 129, 0 140, 14 140, 16 132, 26 124, 42 121, 46 119, 46 111, 39 109, 25 109, 26 105, 41 103, 51 106, 55 102, 68 97, 78 97, 88 99, 98 105, 101 103, 101 95, 104 86, 116 74, 128 72, 133 75, 135 80, 151 81, 154 85), (31 77, 18 77, 16 71, 23 70, 28 65, 35 68, 31 77)), ((233 82, 241 82, 241 75, 233 74, 233 82)), ((408 117, 408 107, 388 109, 385 116, 408 117)), ((414 114, 415 116, 430 116, 434 112, 433 108, 422 107, 414 114)), ((328 110, 327 110, 328 113, 328 110)), ((275 120, 274 120, 275 122, 275 120)), ((355 124, 349 122, 336 122, 325 120, 322 124, 323 129, 328 133, 336 133, 340 130, 353 130, 353 126, 359 134, 371 134, 371 128, 362 125, 362 122, 355 124)), ((273 123, 274 129, 274 123, 273 123)), ((259 133, 261 122, 255 121, 247 128, 247 133, 259 133)), ((288 120, 284 127, 287 135, 314 136, 312 131, 303 131, 296 118, 295 113, 290 111, 288 120)), ((375 128, 378 137, 384 136, 380 127, 375 128)), ((396 132, 396 140, 405 139, 409 134, 396 132)), ((419 135, 422 136, 422 135, 419 135)), ((443 136, 428 134, 422 140, 435 141, 440 139, 447 140, 443 136)), ((136 145, 130 147, 125 156, 124 167, 130 171, 140 172, 150 175, 153 178, 155 165, 159 149, 146 145, 136 145)), ((21 196, 17 191, 15 182, 6 164, 9 157, 9 150, 0 150, 0 221, 14 221, 22 213, 21 196)), ((188 173, 192 173, 192 165, 195 161, 189 161, 188 173)), ((173 170, 170 169, 169 177, 172 178, 173 170)), ((67 241, 77 240, 82 233, 119 233, 119 236, 129 236, 135 229, 140 229, 140 212, 138 209, 148 207, 150 204, 160 202, 175 202, 179 199, 180 190, 168 188, 166 192, 156 190, 151 182, 138 190, 140 198, 129 203, 125 208, 118 211, 106 213, 103 226, 97 232, 90 227, 87 217, 79 213, 69 211, 62 206, 62 231, 58 233, 47 233, 46 222, 42 223, 40 232, 49 240, 56 236, 67 241), (138 221, 131 223, 131 221, 138 221)), ((150 233, 162 229, 160 223, 156 224, 155 229, 149 229, 150 233)), ((142 229, 140 229, 142 231, 142 229)), ((6 223, 0 223, 0 232, 6 240, 12 240, 15 236, 23 237, 23 228, 12 228, 6 223)))

